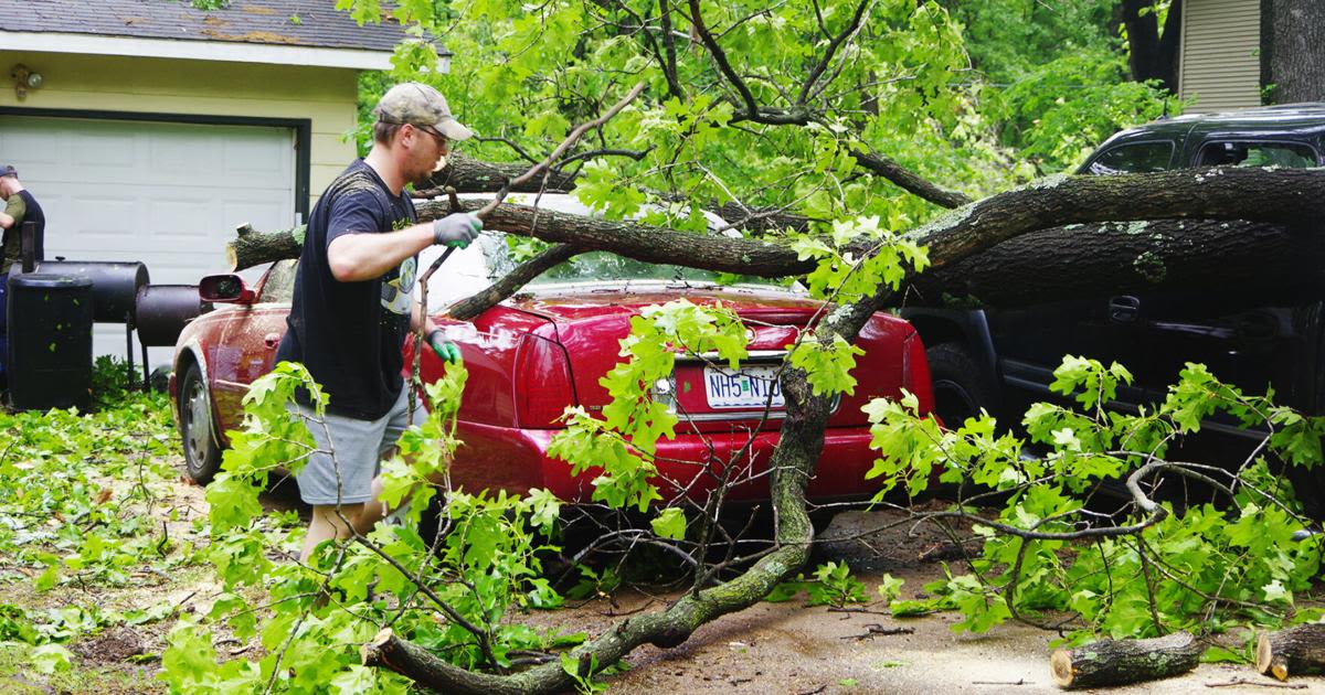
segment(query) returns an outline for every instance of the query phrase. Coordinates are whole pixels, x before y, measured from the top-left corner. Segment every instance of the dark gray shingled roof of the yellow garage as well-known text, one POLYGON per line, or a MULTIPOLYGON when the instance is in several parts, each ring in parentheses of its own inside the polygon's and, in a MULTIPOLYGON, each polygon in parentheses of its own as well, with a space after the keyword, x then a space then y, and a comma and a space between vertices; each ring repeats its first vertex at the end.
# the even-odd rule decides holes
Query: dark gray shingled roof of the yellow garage
MULTIPOLYGON (((386 13, 390 4, 383 5, 386 13)), ((233 0, 212 11, 195 9, 188 0, 0 0, 0 32, 358 50, 391 50, 405 36, 394 19, 359 26, 333 0, 233 0)))

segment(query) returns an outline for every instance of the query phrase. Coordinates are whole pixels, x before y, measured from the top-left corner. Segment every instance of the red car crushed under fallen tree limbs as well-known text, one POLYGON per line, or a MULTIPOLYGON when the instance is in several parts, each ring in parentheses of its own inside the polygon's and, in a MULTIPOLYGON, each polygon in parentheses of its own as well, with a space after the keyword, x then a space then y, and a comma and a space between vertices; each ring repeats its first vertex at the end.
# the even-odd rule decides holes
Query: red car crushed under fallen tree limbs
MULTIPOLYGON (((473 287, 456 287, 456 279, 466 277, 466 263, 474 263, 477 257, 492 265, 493 252, 505 249, 505 242, 486 238, 454 254, 433 283, 449 287, 452 297, 468 295, 473 287), (462 255, 468 259, 457 261, 462 255)), ((204 299, 229 306, 199 316, 179 338, 171 396, 188 474, 199 482, 209 481, 217 470, 220 450, 227 446, 225 432, 240 426, 240 404, 248 385, 272 368, 285 331, 294 265, 274 263, 254 289, 244 286, 237 275, 204 282, 204 299)), ((780 363, 796 328, 804 327, 822 303, 776 286, 719 286, 693 279, 702 275, 693 270, 684 271, 692 279, 635 278, 657 273, 657 266, 586 254, 472 322, 435 319, 460 347, 469 369, 458 422, 465 443, 452 466, 457 485, 511 492, 546 487, 563 500, 587 502, 594 475, 572 477, 570 465, 547 455, 549 442, 562 428, 558 418, 570 405, 594 412, 608 402, 599 379, 620 360, 619 340, 627 335, 631 316, 678 297, 698 304, 722 302, 735 310, 750 327, 751 359, 737 375, 705 367, 701 360, 678 359, 673 377, 656 385, 655 396, 684 413, 677 437, 657 446, 664 486, 694 482, 689 494, 702 499, 714 478, 696 481, 701 467, 733 462, 761 470, 767 465, 778 443, 782 413, 775 409, 761 424, 767 387, 761 387, 766 381, 758 377, 770 375, 780 363), (576 273, 613 277, 563 281, 576 273), (750 437, 753 445, 743 449, 750 437)), ((431 299, 432 306, 443 306, 431 299)), ((925 348, 909 323, 877 314, 860 332, 857 344, 865 349, 853 371, 859 385, 853 396, 836 402, 828 421, 818 475, 810 485, 811 496, 818 499, 859 498, 876 491, 864 478, 876 458, 861 412, 865 402, 897 397, 908 389, 918 396, 924 412, 933 405, 925 348)), ((425 352, 424 379, 436 379, 444 367, 431 351, 425 352)), ((776 393, 774 404, 780 405, 776 393)), ((730 499, 766 496, 766 478, 758 478, 738 486, 730 499)))

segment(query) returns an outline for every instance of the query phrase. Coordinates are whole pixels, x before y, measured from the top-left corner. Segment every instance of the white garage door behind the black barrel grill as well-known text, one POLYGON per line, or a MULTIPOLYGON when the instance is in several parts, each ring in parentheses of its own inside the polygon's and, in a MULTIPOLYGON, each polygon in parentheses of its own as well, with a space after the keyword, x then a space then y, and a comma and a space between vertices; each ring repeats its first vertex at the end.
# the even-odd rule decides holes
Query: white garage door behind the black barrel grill
MULTIPOLYGON (((227 271, 241 222, 292 226, 294 155, 281 127, 0 118, 0 164, 46 213, 46 258, 142 261, 158 285, 227 271)), ((98 355, 123 356, 122 326, 94 335, 98 355)))

